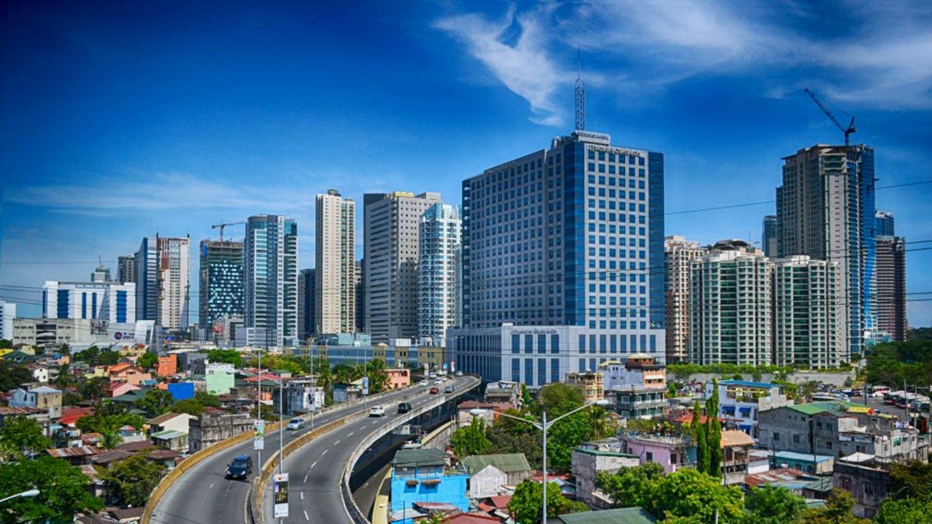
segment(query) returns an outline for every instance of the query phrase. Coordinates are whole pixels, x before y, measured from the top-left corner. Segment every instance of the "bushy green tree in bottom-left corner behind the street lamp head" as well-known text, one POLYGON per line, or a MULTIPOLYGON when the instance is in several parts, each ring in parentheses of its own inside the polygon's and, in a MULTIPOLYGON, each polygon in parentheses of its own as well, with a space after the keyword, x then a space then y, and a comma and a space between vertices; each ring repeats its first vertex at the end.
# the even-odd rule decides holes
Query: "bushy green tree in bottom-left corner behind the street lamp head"
POLYGON ((62 459, 39 457, 34 461, 0 464, 0 498, 35 488, 35 497, 19 497, 3 505, 0 521, 71 522, 76 513, 103 508, 87 490, 90 480, 62 459))

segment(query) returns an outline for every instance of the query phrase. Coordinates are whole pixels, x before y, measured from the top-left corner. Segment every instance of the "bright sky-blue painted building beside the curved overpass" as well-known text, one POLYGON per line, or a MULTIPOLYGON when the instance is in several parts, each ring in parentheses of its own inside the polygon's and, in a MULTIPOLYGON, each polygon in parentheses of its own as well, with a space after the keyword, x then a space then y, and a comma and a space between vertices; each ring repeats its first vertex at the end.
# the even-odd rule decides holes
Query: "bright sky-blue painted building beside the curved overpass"
MULTIPOLYGON (((446 503, 469 511, 466 496, 469 474, 446 464, 440 449, 400 449, 391 461, 391 513, 410 509, 414 503, 446 503)), ((411 518, 399 520, 410 524, 411 518)))

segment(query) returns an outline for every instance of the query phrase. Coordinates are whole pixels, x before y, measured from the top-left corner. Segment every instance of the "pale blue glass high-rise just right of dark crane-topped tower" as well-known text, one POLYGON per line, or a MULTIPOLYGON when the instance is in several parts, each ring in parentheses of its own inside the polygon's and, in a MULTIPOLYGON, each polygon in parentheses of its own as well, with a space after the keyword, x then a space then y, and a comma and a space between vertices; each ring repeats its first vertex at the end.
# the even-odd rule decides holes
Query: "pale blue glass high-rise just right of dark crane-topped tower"
POLYGON ((277 214, 246 221, 244 339, 264 347, 297 344, 297 224, 277 214))

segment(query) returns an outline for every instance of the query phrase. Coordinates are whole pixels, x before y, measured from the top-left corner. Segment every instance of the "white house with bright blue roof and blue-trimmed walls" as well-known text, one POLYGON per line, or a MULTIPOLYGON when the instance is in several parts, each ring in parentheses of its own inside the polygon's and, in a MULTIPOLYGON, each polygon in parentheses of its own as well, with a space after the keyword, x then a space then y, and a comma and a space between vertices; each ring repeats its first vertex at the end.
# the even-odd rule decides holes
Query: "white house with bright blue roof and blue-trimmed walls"
MULTIPOLYGON (((706 383, 706 398, 712 396, 712 382, 706 383)), ((737 428, 758 438, 759 411, 792 405, 783 386, 770 382, 722 380, 719 382, 719 416, 734 420, 737 428)))

